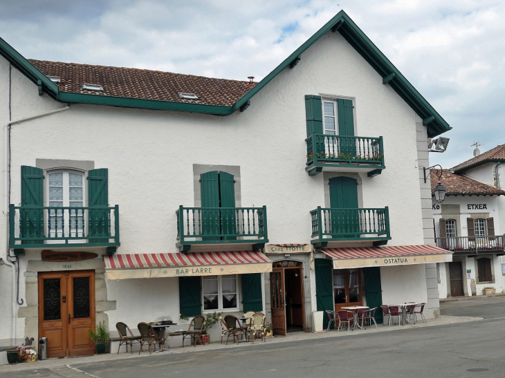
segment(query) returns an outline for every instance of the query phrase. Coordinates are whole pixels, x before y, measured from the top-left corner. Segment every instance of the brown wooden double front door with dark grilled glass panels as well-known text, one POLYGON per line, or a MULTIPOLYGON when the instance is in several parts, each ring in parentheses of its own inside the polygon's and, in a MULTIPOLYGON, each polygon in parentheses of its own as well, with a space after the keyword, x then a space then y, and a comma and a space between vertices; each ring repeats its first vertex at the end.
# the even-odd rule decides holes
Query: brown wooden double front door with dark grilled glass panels
POLYGON ((39 273, 39 338, 48 357, 93 355, 88 330, 95 330, 95 272, 39 273))

